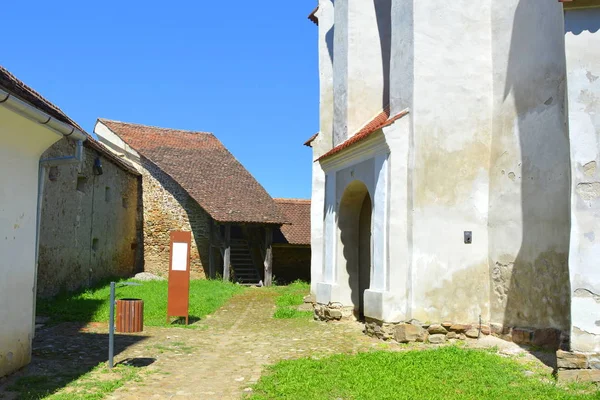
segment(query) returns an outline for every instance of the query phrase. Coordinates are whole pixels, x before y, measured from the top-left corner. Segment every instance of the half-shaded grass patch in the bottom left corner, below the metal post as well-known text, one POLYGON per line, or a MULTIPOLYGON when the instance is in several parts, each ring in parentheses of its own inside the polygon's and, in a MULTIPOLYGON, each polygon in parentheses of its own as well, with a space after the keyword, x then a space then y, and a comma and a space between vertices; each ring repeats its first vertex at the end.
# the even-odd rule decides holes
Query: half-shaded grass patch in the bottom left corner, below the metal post
POLYGON ((126 365, 117 365, 108 370, 101 363, 81 376, 33 375, 19 378, 8 387, 19 394, 21 400, 100 400, 130 381, 140 380, 140 370, 126 365))

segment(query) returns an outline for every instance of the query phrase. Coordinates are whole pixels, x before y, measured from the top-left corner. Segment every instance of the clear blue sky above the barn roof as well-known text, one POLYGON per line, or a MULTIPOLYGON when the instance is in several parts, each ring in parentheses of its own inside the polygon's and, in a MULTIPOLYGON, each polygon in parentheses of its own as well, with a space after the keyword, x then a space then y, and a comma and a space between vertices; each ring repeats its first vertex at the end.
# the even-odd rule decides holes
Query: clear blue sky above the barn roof
POLYGON ((96 118, 213 132, 274 197, 310 197, 316 0, 2 5, 0 63, 92 132, 96 118))

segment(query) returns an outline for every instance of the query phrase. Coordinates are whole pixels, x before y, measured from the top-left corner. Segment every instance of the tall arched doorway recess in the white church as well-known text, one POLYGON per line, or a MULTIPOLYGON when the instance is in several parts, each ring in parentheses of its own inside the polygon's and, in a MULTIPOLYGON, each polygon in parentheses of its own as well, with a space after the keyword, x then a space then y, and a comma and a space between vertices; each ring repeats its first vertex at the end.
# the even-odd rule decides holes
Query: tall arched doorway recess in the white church
POLYGON ((364 293, 371 285, 371 214, 373 204, 366 185, 350 183, 338 214, 340 285, 347 279, 349 297, 357 317, 364 314, 364 293))

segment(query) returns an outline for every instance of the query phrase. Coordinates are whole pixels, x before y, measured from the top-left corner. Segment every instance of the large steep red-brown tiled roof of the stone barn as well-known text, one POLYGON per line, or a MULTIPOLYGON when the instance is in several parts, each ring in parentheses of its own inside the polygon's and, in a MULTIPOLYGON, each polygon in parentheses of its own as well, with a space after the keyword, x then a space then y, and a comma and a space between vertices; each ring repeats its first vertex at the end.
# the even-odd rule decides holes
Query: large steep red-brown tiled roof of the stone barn
POLYGON ((283 224, 277 204, 212 133, 99 119, 219 222, 283 224))

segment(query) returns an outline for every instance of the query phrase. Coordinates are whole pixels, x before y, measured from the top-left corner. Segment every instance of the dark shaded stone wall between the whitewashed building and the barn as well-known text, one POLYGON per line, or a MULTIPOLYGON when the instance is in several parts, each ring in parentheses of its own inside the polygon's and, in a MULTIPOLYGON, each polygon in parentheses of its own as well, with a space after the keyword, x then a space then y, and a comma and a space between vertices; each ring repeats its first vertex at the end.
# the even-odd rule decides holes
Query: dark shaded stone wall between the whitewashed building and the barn
MULTIPOLYGON (((71 156, 63 139, 43 157, 71 156)), ((83 162, 46 168, 37 293, 49 297, 111 276, 131 276, 138 243, 138 176, 84 145, 83 162), (102 175, 94 175, 94 160, 102 175)))

